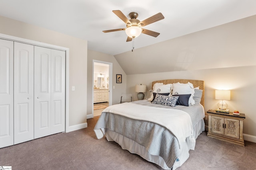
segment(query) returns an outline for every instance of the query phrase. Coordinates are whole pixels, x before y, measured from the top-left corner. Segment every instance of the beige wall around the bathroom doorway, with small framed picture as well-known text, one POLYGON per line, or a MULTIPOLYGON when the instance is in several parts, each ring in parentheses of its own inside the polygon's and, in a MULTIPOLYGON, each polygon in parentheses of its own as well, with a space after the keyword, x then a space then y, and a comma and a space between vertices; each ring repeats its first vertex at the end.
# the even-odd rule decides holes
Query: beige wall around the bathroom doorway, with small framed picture
POLYGON ((121 98, 121 93, 125 93, 126 92, 126 74, 124 72, 124 70, 121 68, 121 66, 118 64, 118 62, 116 61, 116 59, 114 58, 113 55, 108 55, 108 54, 104 54, 104 53, 100 53, 97 51, 92 51, 92 50, 88 50, 88 63, 87 63, 87 82, 88 82, 88 86, 87 86, 87 115, 92 114, 92 106, 93 106, 93 102, 92 102, 92 98, 93 98, 93 94, 92 94, 92 74, 93 74, 93 70, 92 70, 92 63, 93 60, 98 60, 98 61, 104 61, 104 62, 108 62, 108 63, 112 63, 112 86, 115 86, 115 89, 112 89, 112 105, 114 104, 118 104, 120 102, 120 98, 121 98), (122 74, 122 83, 116 83, 116 74, 122 74))

